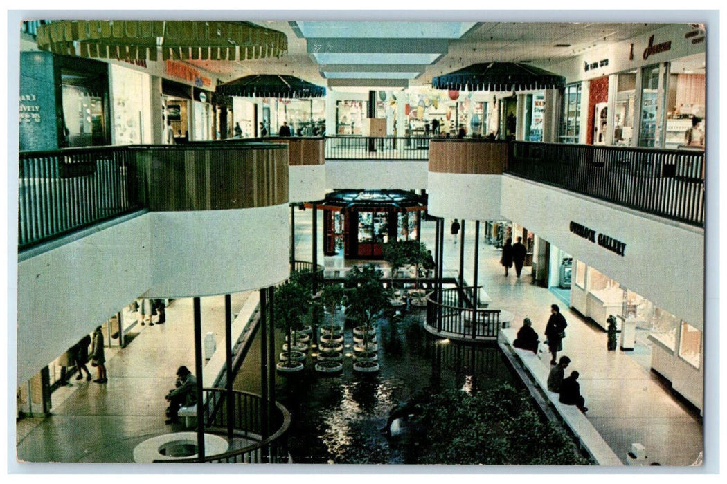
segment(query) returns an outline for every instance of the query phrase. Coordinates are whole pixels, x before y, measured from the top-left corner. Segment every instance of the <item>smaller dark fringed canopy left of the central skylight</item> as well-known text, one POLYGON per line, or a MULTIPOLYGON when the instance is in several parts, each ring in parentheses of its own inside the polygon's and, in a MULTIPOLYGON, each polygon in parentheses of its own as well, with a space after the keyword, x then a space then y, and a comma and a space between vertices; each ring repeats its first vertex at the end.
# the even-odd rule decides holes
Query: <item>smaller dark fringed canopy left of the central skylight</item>
POLYGON ((310 99, 324 97, 326 88, 316 86, 294 75, 258 74, 246 75, 217 86, 217 92, 237 97, 279 97, 310 99))

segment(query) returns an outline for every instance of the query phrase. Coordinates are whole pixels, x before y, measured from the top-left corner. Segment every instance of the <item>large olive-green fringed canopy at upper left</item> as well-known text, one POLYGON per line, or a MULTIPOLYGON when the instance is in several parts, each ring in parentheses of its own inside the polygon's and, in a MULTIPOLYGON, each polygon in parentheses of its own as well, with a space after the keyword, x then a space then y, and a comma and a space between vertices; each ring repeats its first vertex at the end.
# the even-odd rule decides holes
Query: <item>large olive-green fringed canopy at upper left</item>
POLYGON ((249 60, 288 51, 278 30, 205 20, 54 20, 39 26, 36 41, 54 54, 119 60, 249 60))

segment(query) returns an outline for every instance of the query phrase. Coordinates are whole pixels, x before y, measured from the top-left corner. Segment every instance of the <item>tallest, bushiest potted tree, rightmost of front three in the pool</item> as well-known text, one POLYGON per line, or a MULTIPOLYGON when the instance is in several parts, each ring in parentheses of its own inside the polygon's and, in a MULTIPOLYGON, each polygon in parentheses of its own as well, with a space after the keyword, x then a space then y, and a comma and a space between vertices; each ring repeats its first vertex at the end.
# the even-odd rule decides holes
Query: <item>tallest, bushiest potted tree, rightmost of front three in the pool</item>
POLYGON ((373 264, 363 268, 354 266, 346 274, 346 311, 361 326, 354 328, 354 335, 360 335, 361 343, 354 345, 356 362, 353 369, 358 372, 375 372, 379 369, 378 346, 372 341, 376 335, 375 322, 389 305, 390 290, 382 284, 382 271, 373 264))

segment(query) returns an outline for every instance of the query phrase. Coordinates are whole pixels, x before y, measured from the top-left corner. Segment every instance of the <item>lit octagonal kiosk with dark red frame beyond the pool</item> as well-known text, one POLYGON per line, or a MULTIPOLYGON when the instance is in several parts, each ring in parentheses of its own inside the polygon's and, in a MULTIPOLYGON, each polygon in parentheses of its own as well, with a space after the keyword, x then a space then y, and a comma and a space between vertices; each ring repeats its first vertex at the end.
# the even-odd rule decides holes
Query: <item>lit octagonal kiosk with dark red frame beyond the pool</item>
POLYGON ((405 190, 337 190, 316 206, 324 210, 324 254, 352 259, 381 259, 382 244, 419 240, 427 208, 425 197, 405 190))

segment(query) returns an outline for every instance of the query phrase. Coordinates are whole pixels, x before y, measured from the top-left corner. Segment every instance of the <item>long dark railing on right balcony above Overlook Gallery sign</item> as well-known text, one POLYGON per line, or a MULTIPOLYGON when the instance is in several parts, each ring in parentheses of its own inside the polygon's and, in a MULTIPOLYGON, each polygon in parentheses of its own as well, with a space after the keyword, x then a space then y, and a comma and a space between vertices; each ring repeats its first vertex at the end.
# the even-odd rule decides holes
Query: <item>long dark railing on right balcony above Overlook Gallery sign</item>
POLYGON ((704 226, 704 152, 513 141, 507 173, 704 226))

